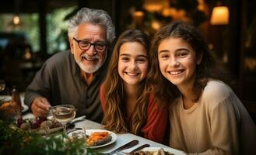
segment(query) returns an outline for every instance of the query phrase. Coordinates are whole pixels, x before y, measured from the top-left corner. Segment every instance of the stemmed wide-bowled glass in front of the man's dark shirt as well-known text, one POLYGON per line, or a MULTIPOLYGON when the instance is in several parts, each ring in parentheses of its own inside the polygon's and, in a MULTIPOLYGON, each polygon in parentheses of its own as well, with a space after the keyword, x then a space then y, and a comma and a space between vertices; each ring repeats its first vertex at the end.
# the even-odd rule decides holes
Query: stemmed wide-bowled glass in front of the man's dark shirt
POLYGON ((64 133, 66 133, 67 130, 67 123, 75 118, 75 111, 74 105, 56 105, 51 107, 52 115, 54 119, 61 122, 64 133))

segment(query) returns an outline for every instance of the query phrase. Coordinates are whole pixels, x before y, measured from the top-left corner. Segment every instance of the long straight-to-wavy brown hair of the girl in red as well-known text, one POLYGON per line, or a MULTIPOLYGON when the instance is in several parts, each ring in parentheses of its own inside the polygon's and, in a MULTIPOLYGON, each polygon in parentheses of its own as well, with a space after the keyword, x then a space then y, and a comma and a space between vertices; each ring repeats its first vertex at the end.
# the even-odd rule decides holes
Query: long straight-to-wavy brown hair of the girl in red
MULTIPOLYGON (((103 124, 105 125, 105 129, 110 129, 117 133, 130 132, 140 135, 142 126, 146 123, 146 110, 149 101, 149 95, 145 91, 146 78, 139 84, 139 98, 136 101, 135 111, 132 113, 131 120, 127 122, 125 120, 126 110, 124 106, 124 82, 117 71, 120 47, 124 43, 128 42, 137 42, 142 44, 149 56, 150 41, 149 36, 147 36, 146 33, 143 33, 138 29, 128 29, 119 36, 110 60, 106 81, 103 83, 107 101, 107 111, 103 117, 103 124)), ((149 67, 150 66, 151 60, 149 59, 149 67)))

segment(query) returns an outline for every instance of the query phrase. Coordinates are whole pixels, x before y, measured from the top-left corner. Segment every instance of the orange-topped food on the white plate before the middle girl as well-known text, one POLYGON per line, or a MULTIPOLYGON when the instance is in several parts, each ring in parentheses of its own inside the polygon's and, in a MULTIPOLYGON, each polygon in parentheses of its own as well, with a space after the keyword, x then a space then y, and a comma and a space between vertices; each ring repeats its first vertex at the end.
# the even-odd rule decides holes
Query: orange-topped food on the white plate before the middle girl
POLYGON ((92 133, 86 140, 87 146, 100 146, 109 143, 112 136, 108 132, 95 132, 92 133))

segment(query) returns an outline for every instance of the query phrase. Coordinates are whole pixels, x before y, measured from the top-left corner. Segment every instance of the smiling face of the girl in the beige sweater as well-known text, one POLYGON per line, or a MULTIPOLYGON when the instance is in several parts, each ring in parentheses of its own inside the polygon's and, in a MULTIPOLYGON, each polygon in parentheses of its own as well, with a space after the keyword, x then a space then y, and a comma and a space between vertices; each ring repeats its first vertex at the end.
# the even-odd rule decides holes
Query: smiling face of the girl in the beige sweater
POLYGON ((181 38, 167 38, 158 47, 160 71, 177 88, 191 88, 195 81, 197 59, 195 50, 181 38))

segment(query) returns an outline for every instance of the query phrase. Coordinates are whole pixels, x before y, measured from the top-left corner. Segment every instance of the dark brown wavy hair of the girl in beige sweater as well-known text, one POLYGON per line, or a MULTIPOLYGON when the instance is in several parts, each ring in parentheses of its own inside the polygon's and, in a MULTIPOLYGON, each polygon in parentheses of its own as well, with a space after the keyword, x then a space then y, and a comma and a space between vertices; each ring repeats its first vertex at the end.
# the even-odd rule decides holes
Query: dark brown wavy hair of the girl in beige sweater
POLYGON ((160 29, 153 38, 153 44, 150 51, 152 59, 151 70, 149 71, 149 81, 153 82, 153 86, 149 89, 155 92, 156 98, 161 101, 172 102, 174 98, 181 95, 177 87, 163 77, 160 71, 160 64, 158 61, 158 47, 163 40, 167 38, 182 38, 188 43, 193 50, 195 50, 196 57, 202 56, 202 61, 197 65, 195 83, 192 89, 193 102, 197 102, 202 91, 205 88, 209 78, 217 79, 227 84, 230 83, 228 72, 222 64, 220 64, 216 57, 209 50, 208 44, 204 37, 194 26, 185 24, 183 22, 173 22, 160 29))

